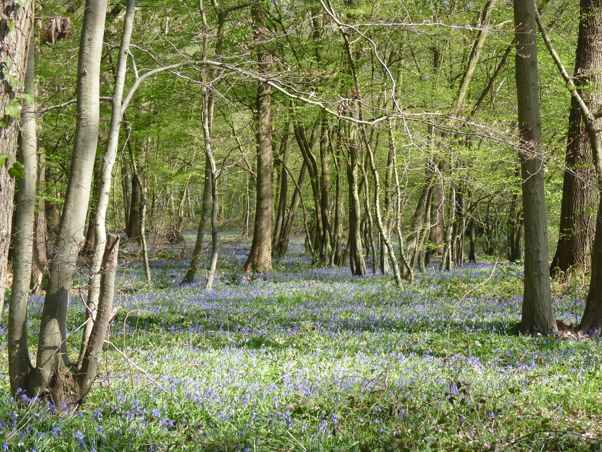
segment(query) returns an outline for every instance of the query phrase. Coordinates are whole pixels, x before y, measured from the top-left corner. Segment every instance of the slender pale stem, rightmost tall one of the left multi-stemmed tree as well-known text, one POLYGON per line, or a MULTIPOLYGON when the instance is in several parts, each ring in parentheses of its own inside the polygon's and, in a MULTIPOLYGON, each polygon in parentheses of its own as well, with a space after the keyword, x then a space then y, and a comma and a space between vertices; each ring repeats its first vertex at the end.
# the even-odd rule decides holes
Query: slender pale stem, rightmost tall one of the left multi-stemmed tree
POLYGON ((81 362, 84 358, 88 337, 90 337, 93 321, 96 318, 96 307, 98 306, 98 296, 101 288, 101 274, 99 271, 101 269, 102 257, 105 254, 105 245, 107 243, 107 207, 111 193, 113 165, 117 157, 117 146, 119 145, 119 130, 121 128, 123 116, 121 102, 123 98, 123 86, 125 85, 125 72, 128 63, 129 41, 132 36, 132 28, 134 28, 135 13, 135 0, 126 0, 123 32, 121 35, 121 44, 119 46, 119 58, 117 60, 117 73, 115 75, 115 84, 113 86, 113 96, 111 96, 111 102, 113 102, 113 106, 111 107, 111 124, 109 126, 107 148, 102 156, 98 197, 96 199, 96 209, 93 220, 95 240, 92 259, 90 260, 90 272, 92 274, 88 280, 88 309, 86 310, 86 319, 92 318, 92 321, 88 322, 84 327, 78 362, 81 362))

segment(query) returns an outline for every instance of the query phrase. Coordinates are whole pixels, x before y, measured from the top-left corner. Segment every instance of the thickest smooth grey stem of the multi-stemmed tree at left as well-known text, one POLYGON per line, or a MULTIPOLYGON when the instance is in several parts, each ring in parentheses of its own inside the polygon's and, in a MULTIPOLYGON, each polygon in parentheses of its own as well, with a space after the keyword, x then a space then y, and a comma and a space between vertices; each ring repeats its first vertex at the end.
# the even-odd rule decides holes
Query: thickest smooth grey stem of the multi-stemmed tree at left
POLYGON ((99 76, 107 0, 86 0, 79 41, 77 108, 69 183, 49 263, 39 345, 30 397, 45 392, 52 375, 67 372, 66 321, 76 260, 84 239, 85 216, 98 144, 99 76))

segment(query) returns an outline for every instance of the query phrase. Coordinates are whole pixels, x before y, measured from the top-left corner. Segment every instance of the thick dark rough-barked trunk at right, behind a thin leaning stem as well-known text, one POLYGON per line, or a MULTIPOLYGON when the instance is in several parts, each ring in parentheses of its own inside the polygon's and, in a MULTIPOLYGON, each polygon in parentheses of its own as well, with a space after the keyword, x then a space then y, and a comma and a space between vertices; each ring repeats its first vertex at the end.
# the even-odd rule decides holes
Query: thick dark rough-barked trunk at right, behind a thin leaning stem
MULTIPOLYGON (((580 2, 573 81, 591 111, 602 107, 601 13, 599 0, 580 2)), ((592 211, 599 196, 592 183, 595 180, 592 147, 579 102, 574 97, 568 118, 565 165, 558 245, 550 272, 553 277, 570 278, 571 271, 587 271, 591 265, 596 219, 592 211)))

